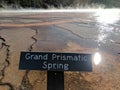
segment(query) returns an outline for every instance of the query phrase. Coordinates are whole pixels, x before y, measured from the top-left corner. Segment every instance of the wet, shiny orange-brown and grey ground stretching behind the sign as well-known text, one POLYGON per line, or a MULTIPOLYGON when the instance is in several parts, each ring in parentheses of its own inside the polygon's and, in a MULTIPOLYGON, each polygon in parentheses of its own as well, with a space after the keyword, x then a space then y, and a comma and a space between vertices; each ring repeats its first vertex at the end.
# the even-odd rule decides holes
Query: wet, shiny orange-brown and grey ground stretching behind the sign
POLYGON ((65 72, 65 90, 119 90, 119 14, 0 13, 0 90, 46 90, 46 71, 18 70, 21 51, 99 52, 93 72, 65 72))

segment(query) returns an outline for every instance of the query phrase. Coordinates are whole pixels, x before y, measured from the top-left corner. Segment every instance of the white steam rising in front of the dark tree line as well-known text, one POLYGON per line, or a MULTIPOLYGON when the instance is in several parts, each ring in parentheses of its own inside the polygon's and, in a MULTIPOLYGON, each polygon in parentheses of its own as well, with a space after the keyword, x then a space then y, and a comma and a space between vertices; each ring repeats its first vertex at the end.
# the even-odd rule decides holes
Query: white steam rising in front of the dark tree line
MULTIPOLYGON (((99 8, 105 8, 105 5, 103 4, 73 4, 73 5, 70 5, 70 6, 62 6, 60 5, 59 7, 54 7, 54 6, 47 6, 48 8, 45 9, 45 10, 60 10, 60 9, 99 9, 99 8)), ((0 10, 17 10, 17 9, 35 9, 33 7, 29 7, 29 8, 23 8, 22 6, 18 5, 18 4, 11 4, 11 5, 8 5, 6 3, 2 3, 1 4, 1 7, 0 7, 0 10)), ((40 10, 41 8, 36 8, 36 10, 40 10)))

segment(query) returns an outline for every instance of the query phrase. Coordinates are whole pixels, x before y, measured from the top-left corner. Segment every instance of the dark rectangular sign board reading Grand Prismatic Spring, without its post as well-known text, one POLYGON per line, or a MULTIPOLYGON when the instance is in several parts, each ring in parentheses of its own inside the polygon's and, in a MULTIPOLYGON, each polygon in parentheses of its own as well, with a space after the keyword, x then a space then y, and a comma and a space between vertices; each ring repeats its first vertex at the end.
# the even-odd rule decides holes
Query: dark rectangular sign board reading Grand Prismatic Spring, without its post
POLYGON ((92 71, 91 54, 21 52, 19 69, 47 71, 92 71))

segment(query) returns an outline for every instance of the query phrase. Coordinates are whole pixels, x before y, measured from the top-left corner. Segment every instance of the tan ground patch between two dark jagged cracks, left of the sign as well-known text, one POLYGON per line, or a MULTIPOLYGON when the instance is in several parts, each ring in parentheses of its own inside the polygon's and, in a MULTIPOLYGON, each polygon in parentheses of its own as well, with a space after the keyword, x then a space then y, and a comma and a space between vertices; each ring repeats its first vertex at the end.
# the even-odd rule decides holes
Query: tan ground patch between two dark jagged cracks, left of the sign
POLYGON ((34 43, 34 40, 31 37, 36 33, 29 28, 14 28, 9 30, 4 29, 0 31, 0 34, 6 40, 5 43, 9 45, 9 66, 4 71, 5 76, 2 82, 11 83, 14 88, 19 88, 25 74, 25 71, 18 69, 20 52, 28 51, 28 48, 34 43))

